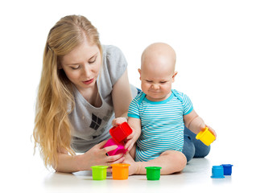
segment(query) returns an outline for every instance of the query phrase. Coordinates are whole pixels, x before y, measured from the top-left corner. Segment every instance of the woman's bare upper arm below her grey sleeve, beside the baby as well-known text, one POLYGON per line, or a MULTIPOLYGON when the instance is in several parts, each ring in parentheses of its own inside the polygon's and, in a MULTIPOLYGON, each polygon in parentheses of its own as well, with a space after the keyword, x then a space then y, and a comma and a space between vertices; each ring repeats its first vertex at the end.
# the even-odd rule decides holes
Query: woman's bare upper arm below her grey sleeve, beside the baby
POLYGON ((115 117, 127 117, 128 108, 132 101, 127 69, 114 84, 112 100, 115 117))

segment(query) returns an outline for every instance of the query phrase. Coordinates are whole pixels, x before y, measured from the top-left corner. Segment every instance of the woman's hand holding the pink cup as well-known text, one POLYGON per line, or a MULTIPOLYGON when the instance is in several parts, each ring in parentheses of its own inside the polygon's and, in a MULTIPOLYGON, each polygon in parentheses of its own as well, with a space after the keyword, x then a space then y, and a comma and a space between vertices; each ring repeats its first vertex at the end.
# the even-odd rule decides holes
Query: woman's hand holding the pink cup
MULTIPOLYGON (((96 146, 93 146, 89 151, 85 154, 81 155, 81 164, 86 164, 85 160, 87 160, 87 170, 90 169, 91 166, 109 166, 112 163, 120 163, 123 162, 125 158, 123 158, 123 154, 117 154, 113 156, 108 156, 107 153, 111 150, 115 150, 118 146, 107 146, 104 147, 106 141, 103 141, 96 146)), ((109 169, 108 169, 109 171, 109 169)))

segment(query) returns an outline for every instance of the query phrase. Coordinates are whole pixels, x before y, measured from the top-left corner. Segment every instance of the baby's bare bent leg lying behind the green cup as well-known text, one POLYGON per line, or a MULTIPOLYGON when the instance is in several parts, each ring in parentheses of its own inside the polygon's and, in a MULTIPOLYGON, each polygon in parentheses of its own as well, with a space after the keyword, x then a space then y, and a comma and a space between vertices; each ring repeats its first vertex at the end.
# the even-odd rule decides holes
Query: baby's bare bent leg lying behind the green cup
POLYGON ((159 156, 148 162, 134 162, 130 157, 126 156, 124 162, 130 163, 129 175, 146 175, 147 166, 161 166, 161 175, 171 175, 175 172, 180 172, 187 164, 187 158, 180 151, 167 150, 159 156))

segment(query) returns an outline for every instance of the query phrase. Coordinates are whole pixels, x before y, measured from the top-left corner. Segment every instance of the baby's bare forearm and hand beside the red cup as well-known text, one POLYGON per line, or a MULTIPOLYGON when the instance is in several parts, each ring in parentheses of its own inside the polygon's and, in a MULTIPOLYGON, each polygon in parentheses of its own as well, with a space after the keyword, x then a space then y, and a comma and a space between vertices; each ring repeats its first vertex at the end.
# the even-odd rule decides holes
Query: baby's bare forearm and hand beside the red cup
POLYGON ((126 142, 126 146, 125 146, 125 149, 127 149, 127 152, 131 150, 131 148, 134 146, 134 143, 139 138, 140 133, 142 132, 141 120, 139 118, 129 117, 128 124, 133 129, 133 133, 131 133, 127 137, 128 141, 126 142))

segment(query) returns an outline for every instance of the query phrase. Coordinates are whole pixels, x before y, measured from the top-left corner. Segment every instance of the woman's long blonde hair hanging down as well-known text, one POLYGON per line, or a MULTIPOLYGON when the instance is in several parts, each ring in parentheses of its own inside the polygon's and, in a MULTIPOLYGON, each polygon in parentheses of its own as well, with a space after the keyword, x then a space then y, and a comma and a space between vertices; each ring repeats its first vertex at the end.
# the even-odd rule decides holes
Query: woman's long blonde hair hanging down
POLYGON ((57 166, 60 150, 74 155, 68 119, 74 106, 72 83, 60 69, 61 57, 87 39, 101 50, 97 29, 81 15, 61 18, 49 31, 43 53, 43 69, 35 109, 33 137, 45 166, 57 166))

